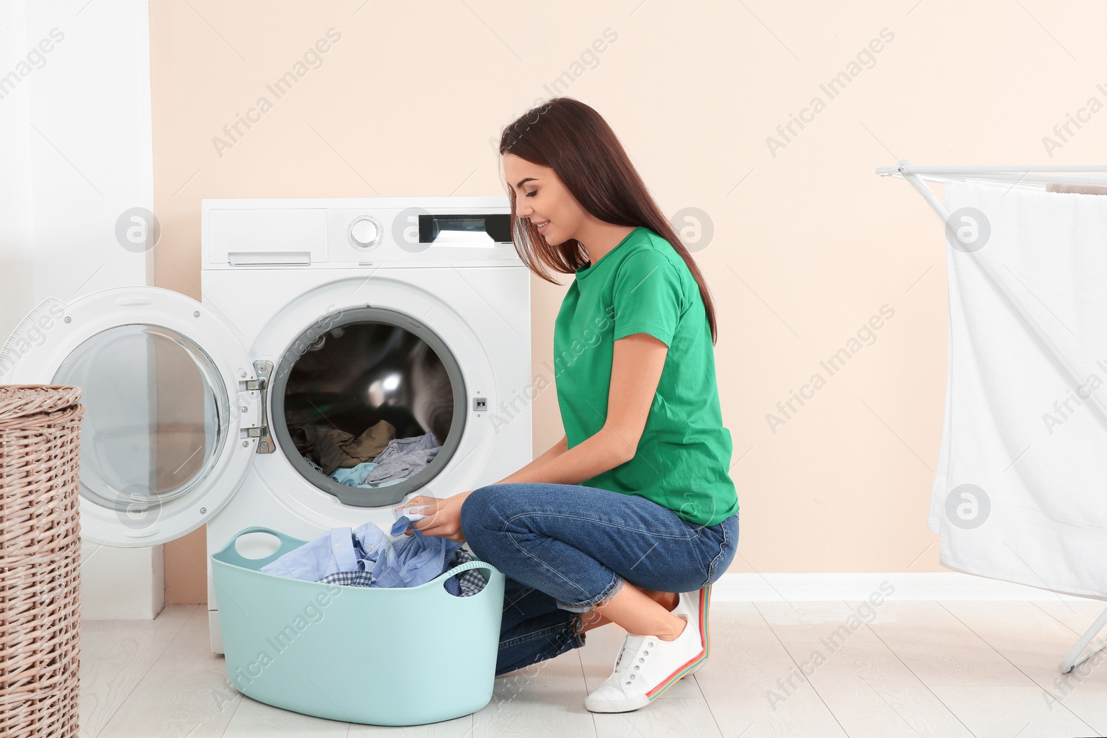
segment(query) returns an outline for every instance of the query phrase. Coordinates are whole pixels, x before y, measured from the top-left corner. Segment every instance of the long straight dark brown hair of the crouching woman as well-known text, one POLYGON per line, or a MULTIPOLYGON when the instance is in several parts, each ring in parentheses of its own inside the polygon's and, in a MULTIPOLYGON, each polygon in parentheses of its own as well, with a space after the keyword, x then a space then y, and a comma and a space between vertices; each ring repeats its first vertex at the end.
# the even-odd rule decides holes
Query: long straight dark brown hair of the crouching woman
MULTIPOLYGON (((645 189, 634 165, 599 113, 572 97, 554 97, 511 122, 499 138, 499 153, 514 154, 531 164, 550 167, 581 207, 591 216, 615 226, 645 226, 672 245, 700 285, 700 295, 715 343, 715 303, 692 254, 673 231, 645 189)), ((523 262, 547 282, 559 284, 550 271, 572 274, 588 263, 588 252, 576 239, 550 246, 529 220, 515 215, 511 199, 511 235, 523 262)))

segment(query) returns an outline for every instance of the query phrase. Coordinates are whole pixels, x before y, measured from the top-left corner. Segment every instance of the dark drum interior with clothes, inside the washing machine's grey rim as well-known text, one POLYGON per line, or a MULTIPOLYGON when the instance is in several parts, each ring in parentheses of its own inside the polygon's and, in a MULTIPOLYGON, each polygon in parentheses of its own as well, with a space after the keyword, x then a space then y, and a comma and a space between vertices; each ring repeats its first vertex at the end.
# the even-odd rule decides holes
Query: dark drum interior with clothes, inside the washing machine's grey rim
POLYGON ((446 366, 420 336, 381 322, 339 325, 297 358, 284 386, 296 451, 350 487, 385 487, 437 456, 454 422, 446 366))

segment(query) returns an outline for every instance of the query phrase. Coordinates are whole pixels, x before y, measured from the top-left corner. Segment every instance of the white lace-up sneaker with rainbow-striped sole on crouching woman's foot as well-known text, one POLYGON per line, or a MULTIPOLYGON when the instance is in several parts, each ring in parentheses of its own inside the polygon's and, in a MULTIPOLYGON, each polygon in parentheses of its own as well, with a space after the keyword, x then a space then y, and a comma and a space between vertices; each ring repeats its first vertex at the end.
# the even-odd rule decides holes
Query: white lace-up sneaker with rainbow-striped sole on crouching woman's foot
MULTIPOLYGON (((679 603, 677 603, 677 606, 679 603)), ((644 707, 681 677, 690 674, 706 657, 700 628, 683 612, 684 630, 673 641, 655 635, 628 633, 614 672, 584 698, 592 713, 627 713, 644 707)))

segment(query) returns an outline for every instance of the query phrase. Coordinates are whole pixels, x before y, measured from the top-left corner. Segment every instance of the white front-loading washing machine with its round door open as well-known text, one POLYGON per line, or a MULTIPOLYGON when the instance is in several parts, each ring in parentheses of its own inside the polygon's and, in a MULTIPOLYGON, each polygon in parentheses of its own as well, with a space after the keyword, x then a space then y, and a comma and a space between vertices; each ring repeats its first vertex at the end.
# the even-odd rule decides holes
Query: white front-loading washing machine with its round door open
MULTIPOLYGON (((83 389, 82 536, 141 547, 206 524, 223 653, 210 554, 236 532, 387 530, 415 493, 529 462, 530 274, 509 212, 506 197, 204 200, 199 302, 135 287, 35 308, 6 381, 83 389), (328 468, 402 438, 422 460, 383 481, 328 468)), ((272 550, 250 538, 247 555, 272 550)))

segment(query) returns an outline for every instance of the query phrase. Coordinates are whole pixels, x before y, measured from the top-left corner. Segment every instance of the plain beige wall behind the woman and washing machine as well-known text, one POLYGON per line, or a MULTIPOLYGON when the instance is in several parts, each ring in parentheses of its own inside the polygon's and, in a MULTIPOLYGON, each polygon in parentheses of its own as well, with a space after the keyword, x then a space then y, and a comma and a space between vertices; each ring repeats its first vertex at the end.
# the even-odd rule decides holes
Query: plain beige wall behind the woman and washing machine
MULTIPOLYGON (((1090 0, 157 0, 157 283, 200 298, 205 197, 503 194, 489 139, 568 72, 562 91, 610 122, 662 209, 700 208, 714 226, 695 257, 741 457, 732 571, 937 571, 925 518, 944 401, 942 233, 910 185, 873 168, 1107 159, 1107 112, 1052 158, 1043 144, 1089 97, 1107 101, 1105 21, 1090 0), (273 102, 266 85, 329 29, 341 39, 322 65, 273 102), (618 38, 577 64, 606 29, 618 38), (831 98, 820 84, 870 43, 880 52, 831 98), (217 153, 213 137, 262 95, 272 108, 217 153), (815 96, 825 108, 770 152, 815 96), (882 305, 894 315, 830 376, 819 362, 882 305), (814 373, 826 385, 774 433, 766 415, 814 373)), ((537 373, 565 289, 534 288, 537 373)), ((560 434, 550 389, 536 451, 560 434)), ((166 568, 169 602, 203 601, 199 534, 167 545, 166 568)))

